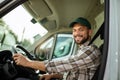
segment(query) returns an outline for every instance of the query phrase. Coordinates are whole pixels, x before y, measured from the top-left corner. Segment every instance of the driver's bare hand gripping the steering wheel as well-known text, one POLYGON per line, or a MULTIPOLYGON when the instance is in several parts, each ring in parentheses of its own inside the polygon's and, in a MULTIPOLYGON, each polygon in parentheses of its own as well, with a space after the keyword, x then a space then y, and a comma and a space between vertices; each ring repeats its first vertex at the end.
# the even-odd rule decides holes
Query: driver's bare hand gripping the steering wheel
POLYGON ((22 54, 14 54, 13 59, 17 65, 27 66, 30 60, 22 54))

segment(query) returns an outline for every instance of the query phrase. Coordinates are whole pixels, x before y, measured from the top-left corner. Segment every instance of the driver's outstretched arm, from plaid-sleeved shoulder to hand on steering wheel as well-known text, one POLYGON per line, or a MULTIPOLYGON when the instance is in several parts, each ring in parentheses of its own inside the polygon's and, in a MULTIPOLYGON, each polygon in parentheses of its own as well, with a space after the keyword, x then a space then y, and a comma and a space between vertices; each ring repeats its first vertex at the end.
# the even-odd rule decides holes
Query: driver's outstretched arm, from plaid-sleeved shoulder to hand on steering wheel
POLYGON ((100 51, 95 49, 95 47, 87 47, 86 49, 83 49, 83 51, 80 51, 80 53, 70 57, 69 59, 50 61, 48 62, 47 67, 45 67, 44 62, 31 61, 20 54, 15 54, 13 58, 18 65, 42 71, 47 70, 50 73, 67 72, 75 68, 86 69, 97 67, 100 64, 100 51), (82 53, 82 55, 80 53, 82 53))

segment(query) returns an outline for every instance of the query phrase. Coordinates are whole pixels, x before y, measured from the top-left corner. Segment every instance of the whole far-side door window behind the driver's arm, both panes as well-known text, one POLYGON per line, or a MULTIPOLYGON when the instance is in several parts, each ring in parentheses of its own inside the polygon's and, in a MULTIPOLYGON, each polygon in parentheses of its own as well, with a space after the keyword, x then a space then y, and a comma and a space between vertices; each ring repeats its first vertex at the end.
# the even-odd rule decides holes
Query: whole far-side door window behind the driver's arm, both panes
POLYGON ((36 57, 39 60, 68 57, 72 53, 73 45, 72 34, 57 34, 39 46, 36 57))

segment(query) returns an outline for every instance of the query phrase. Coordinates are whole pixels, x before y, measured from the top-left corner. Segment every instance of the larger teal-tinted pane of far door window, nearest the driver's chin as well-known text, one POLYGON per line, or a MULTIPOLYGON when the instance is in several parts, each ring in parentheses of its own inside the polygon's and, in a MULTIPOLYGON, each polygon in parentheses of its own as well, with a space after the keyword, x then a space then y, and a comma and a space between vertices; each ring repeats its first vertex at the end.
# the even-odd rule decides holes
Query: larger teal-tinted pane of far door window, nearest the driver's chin
POLYGON ((58 34, 53 58, 67 56, 72 48, 73 38, 71 34, 58 34))

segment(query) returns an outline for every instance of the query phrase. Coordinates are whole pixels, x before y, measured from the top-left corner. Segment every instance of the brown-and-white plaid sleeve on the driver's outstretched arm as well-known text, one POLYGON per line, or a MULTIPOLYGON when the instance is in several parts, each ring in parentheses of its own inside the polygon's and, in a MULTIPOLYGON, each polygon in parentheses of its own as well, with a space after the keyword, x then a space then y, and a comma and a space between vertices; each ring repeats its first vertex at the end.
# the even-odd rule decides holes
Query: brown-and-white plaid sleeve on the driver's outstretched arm
POLYGON ((87 46, 68 59, 50 61, 46 64, 49 73, 61 73, 75 69, 97 67, 100 64, 100 51, 94 46, 87 46))

